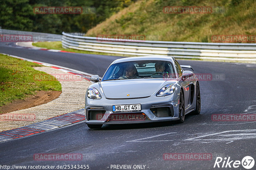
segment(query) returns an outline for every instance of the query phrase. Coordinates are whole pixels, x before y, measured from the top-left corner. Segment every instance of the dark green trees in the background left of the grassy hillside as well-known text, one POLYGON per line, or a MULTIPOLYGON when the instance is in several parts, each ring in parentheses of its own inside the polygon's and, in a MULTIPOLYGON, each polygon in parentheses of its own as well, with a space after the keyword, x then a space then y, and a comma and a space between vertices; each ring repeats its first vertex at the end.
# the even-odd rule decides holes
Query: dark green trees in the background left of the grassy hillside
POLYGON ((135 0, 4 0, 0 3, 0 26, 3 29, 47 32, 87 32, 135 0), (89 6, 95 14, 35 14, 38 6, 89 6))

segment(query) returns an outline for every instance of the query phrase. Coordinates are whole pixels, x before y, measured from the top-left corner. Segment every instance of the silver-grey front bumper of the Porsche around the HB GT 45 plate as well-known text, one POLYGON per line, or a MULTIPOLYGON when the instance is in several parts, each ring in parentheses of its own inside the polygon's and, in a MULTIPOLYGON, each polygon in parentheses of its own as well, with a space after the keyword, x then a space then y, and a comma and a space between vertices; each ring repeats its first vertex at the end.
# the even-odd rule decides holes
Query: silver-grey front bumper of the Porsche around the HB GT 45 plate
MULTIPOLYGON (((138 99, 106 99, 102 96, 101 99, 89 99, 86 96, 85 99, 85 123, 86 124, 134 124, 134 123, 150 123, 150 122, 161 122, 161 121, 171 121, 179 119, 179 94, 173 93, 169 96, 149 96, 147 98, 138 99), (125 104, 141 104, 140 112, 121 112, 113 113, 113 105, 125 105, 125 104), (168 117, 157 117, 156 114, 152 112, 153 108, 169 107, 171 115, 168 117), (151 109, 151 110, 150 110, 151 109), (102 118, 97 118, 97 120, 88 120, 89 110, 99 110, 99 113, 103 113, 102 118), (130 115, 127 119, 115 119, 118 115, 130 115), (134 119, 131 115, 144 115, 143 119, 134 119), (112 117, 112 118, 111 118, 112 117)), ((136 116, 135 116, 136 117, 136 116)))

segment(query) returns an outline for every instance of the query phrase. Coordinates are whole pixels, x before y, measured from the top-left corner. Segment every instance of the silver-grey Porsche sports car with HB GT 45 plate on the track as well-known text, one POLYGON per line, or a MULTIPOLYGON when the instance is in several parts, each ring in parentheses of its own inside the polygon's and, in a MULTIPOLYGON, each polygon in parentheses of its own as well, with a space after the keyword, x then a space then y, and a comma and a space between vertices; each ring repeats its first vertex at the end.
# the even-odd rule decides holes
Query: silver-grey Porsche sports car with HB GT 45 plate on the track
MULTIPOLYGON (((103 75, 93 75, 85 96, 85 123, 150 123, 200 114, 199 82, 192 71, 173 57, 141 56, 113 61, 103 75)), ((193 70, 194 71, 194 70, 193 70)))

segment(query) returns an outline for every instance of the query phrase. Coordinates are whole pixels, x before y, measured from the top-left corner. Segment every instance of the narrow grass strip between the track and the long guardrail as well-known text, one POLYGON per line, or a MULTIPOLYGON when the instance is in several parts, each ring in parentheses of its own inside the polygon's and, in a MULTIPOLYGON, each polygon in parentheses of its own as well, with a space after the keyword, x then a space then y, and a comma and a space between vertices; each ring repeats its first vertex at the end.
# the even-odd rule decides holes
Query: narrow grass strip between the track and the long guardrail
POLYGON ((47 48, 47 49, 63 50, 63 51, 74 52, 74 53, 98 54, 98 55, 114 55, 114 56, 133 57, 132 55, 110 54, 110 53, 98 53, 98 52, 91 52, 91 51, 76 50, 76 49, 71 49, 71 48, 63 48, 62 45, 61 45, 61 41, 36 42, 36 43, 32 43, 32 45, 33 45, 33 46, 37 46, 37 47, 47 48))

